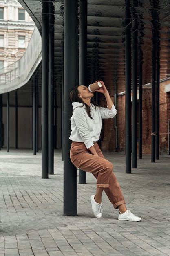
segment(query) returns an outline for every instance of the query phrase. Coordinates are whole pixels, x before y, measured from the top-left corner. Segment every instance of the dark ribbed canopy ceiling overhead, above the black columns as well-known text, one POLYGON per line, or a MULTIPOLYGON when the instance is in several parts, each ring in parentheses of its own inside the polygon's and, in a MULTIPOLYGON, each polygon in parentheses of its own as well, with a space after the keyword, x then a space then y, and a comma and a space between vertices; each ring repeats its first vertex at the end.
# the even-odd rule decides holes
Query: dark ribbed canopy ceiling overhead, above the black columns
MULTIPOLYGON (((42 1, 19 2, 41 33, 42 1)), ((44 2, 49 3, 47 14, 52 17, 55 28, 55 88, 61 93, 64 0, 44 2)), ((143 71, 142 84, 152 81, 153 45, 156 45, 154 54, 160 58, 160 79, 170 74, 169 0, 88 0, 87 3, 87 85, 99 79, 106 85, 116 85, 117 93, 125 90, 125 29, 129 24, 131 49, 134 43, 137 44, 138 65, 141 64, 143 71), (134 40, 134 35, 137 40, 134 40)))

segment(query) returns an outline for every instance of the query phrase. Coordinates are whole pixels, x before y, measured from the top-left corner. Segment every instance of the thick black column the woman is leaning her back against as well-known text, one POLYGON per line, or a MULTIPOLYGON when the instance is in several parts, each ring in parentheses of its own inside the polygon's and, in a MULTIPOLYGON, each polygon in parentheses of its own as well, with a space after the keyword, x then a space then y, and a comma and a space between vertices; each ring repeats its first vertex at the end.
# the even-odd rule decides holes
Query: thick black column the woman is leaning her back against
POLYGON ((77 0, 64 0, 64 215, 77 215, 77 168, 70 160, 69 135, 71 133, 70 117, 72 113, 69 93, 78 83, 77 72, 77 0))

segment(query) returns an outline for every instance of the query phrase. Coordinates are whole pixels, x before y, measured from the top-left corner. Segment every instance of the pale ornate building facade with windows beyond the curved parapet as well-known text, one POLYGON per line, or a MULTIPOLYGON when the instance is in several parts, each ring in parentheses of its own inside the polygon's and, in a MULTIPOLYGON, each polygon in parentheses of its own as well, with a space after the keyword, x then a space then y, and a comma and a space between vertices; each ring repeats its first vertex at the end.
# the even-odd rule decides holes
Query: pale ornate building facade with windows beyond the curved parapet
POLYGON ((0 0, 0 72, 23 56, 35 23, 17 0, 0 0))

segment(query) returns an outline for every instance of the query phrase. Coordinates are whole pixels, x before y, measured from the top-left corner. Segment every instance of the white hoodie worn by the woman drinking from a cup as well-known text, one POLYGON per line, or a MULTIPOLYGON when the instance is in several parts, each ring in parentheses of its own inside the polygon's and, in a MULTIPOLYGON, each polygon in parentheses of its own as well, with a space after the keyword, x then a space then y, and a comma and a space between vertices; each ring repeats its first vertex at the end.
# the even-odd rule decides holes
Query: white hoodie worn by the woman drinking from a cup
POLYGON ((93 141, 98 141, 102 129, 102 118, 115 117, 117 110, 115 105, 111 110, 99 106, 90 105, 91 119, 86 111, 86 106, 79 102, 73 102, 73 115, 71 117, 70 140, 84 142, 86 148, 93 146, 93 141))

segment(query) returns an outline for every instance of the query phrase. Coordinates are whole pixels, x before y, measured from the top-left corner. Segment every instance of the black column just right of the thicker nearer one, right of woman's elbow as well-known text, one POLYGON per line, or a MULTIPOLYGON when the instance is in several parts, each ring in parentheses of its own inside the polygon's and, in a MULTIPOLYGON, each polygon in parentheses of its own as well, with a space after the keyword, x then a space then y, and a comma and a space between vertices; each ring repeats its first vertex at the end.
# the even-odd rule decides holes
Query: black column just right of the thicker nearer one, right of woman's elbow
POLYGON ((132 168, 137 168, 137 20, 133 28, 132 55, 132 168))

